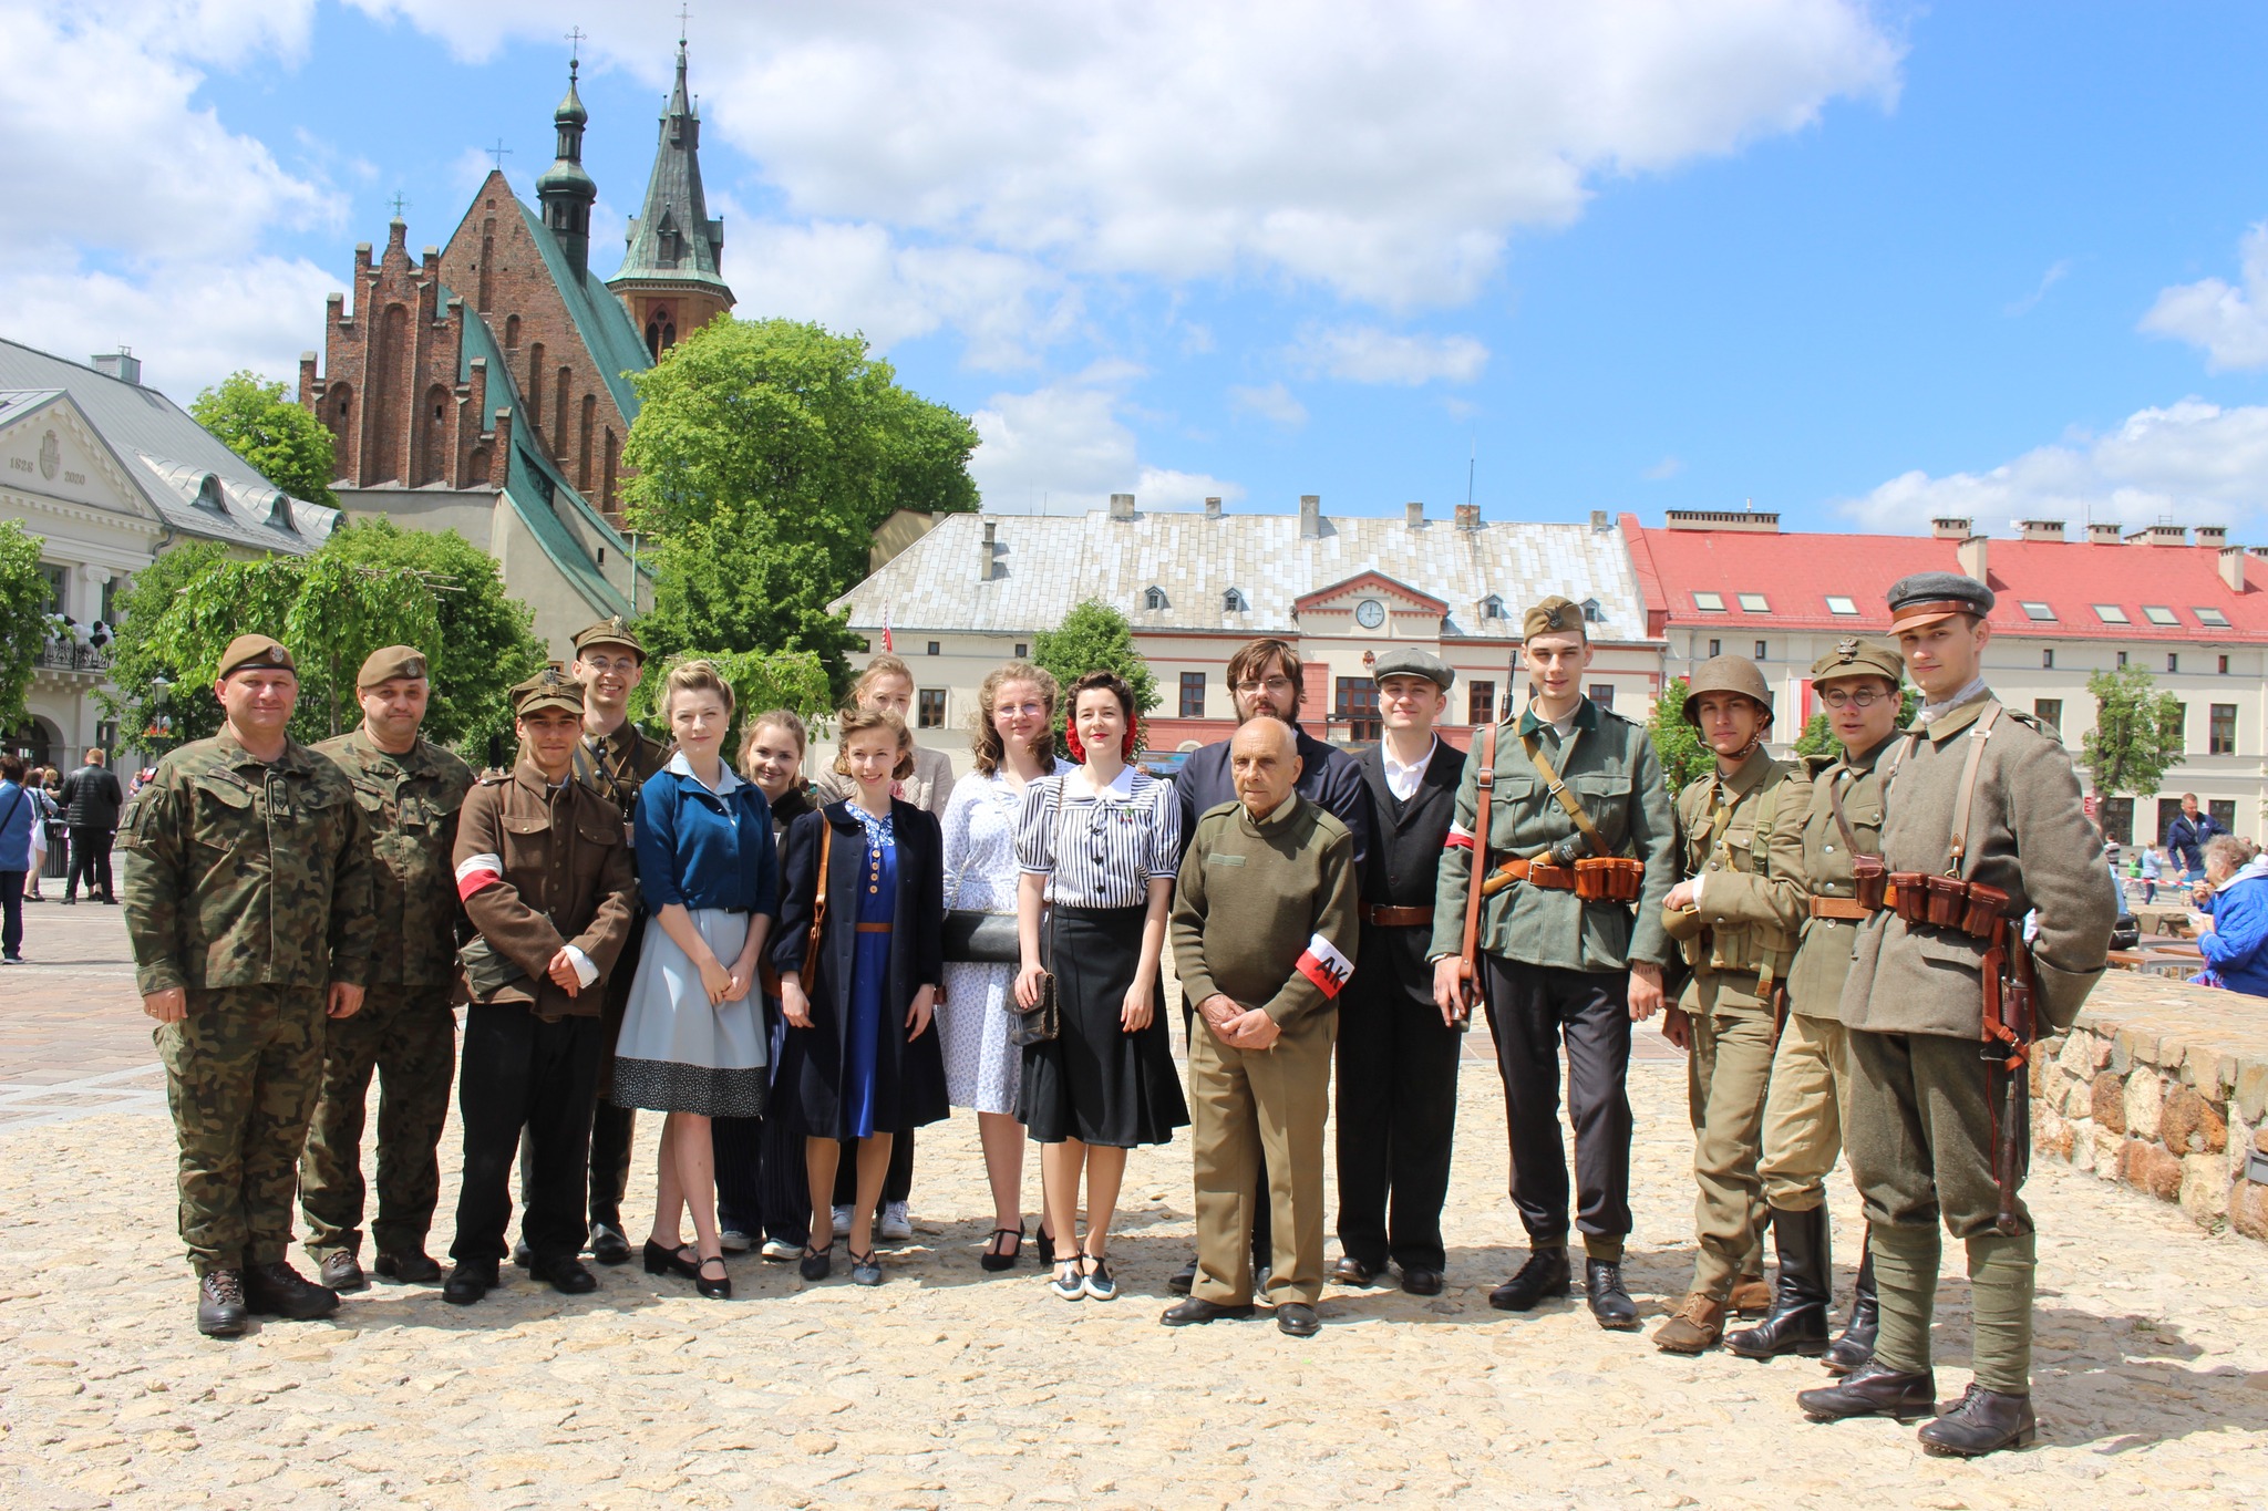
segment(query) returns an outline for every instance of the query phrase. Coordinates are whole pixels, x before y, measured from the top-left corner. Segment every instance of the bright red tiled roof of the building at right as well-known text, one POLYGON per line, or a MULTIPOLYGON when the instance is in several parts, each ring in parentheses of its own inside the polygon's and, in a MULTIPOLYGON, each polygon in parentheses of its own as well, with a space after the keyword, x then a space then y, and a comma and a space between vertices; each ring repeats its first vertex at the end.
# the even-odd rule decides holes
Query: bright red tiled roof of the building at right
MULTIPOLYGON (((1889 630, 1889 587, 1916 571, 1962 571, 1960 541, 1919 535, 1769 535, 1749 530, 1651 530, 1622 517, 1647 607, 1669 625, 1776 625, 1785 630, 1889 630), (1721 612, 1694 594, 1717 594, 1721 612), (1742 594, 1751 605, 1742 605, 1742 594), (1828 596, 1857 614, 1835 614, 1828 596), (1753 607, 1762 598, 1762 607, 1753 607)), ((1998 596, 2000 634, 2116 641, 2268 641, 2268 562, 2243 557, 2245 587, 2220 580, 2216 546, 2146 546, 1991 539, 1987 587, 1998 596), (2259 578, 2259 582, 2254 582, 2259 578), (2053 618, 2032 618, 2025 603, 2053 618), (2096 605, 2125 614, 2107 621, 2096 605), (2146 609, 2159 609, 2152 621, 2146 609), (2227 628, 2198 609, 2220 612, 2227 628), (2170 614, 2173 623, 2161 623, 2170 614)))

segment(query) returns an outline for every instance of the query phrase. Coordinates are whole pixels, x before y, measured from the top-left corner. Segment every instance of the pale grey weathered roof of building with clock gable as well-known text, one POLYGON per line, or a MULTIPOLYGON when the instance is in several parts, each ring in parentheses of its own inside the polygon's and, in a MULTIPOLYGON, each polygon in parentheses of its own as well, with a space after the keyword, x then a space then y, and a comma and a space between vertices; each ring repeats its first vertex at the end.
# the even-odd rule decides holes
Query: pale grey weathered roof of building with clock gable
POLYGON ((1601 641, 1647 639, 1644 600, 1615 528, 1492 521, 1458 530, 1402 519, 1331 519, 1302 539, 1297 514, 1082 517, 948 514, 830 607, 855 630, 1018 634, 1059 625, 1100 598, 1139 632, 1297 634, 1295 603, 1363 573, 1383 573, 1449 605, 1449 639, 1520 639, 1520 612, 1549 594, 1597 598, 1601 641), (996 526, 993 575, 980 580, 984 526, 996 526), (1166 607, 1145 607, 1148 589, 1166 607), (1229 589, 1250 605, 1222 607, 1229 589), (1504 618, 1483 603, 1504 600, 1504 618))

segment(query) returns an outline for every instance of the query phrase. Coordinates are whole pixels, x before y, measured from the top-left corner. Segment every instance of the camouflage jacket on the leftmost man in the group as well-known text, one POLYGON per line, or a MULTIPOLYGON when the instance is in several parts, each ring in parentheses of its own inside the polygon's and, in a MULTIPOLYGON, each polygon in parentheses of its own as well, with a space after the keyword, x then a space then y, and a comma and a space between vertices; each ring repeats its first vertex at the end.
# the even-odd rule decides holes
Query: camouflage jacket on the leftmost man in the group
POLYGON ((136 988, 370 985, 361 829, 347 772, 297 741, 272 763, 227 727, 168 752, 118 840, 136 988))

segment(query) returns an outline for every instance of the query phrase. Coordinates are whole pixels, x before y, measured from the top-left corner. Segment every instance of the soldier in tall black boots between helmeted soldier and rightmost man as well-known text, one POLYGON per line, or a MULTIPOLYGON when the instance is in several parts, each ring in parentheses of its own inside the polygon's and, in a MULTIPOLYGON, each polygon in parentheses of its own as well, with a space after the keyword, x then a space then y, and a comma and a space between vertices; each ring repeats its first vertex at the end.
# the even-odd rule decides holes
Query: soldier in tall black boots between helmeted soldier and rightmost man
MULTIPOLYGON (((1839 757, 1810 757, 1812 802, 1803 813, 1803 881, 1810 888, 1803 940, 1787 972, 1787 1024, 1771 1056, 1765 1099, 1765 1183, 1771 1241, 1780 1273, 1771 1314, 1728 1332, 1726 1350, 1749 1359, 1826 1352, 1846 1375, 1873 1352, 1873 1262, 1862 1257, 1857 1298, 1844 1334, 1828 1348, 1828 1303, 1835 1291, 1828 1244, 1826 1173, 1842 1153, 1842 1103, 1848 1085, 1842 988, 1851 974, 1851 940, 1871 917, 1857 895, 1857 861, 1867 856, 1880 886, 1882 784, 1876 761, 1898 725, 1898 648, 1846 637, 1812 661, 1812 689, 1839 757)), ((1871 890, 1869 888, 1869 890, 1871 890)), ((1871 897, 1878 902, 1878 897, 1871 897)))

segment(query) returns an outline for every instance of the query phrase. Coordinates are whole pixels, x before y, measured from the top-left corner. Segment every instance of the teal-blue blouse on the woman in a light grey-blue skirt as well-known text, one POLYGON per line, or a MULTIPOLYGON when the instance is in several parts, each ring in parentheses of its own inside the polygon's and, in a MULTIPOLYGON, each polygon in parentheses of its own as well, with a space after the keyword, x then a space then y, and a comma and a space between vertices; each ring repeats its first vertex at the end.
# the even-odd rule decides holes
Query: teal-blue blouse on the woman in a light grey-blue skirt
POLYGON ((780 915, 771 804, 753 782, 723 795, 683 770, 683 757, 637 788, 637 895, 649 911, 746 908, 780 915), (730 806, 728 806, 730 804, 730 806), (730 813, 739 811, 735 825, 730 813))

